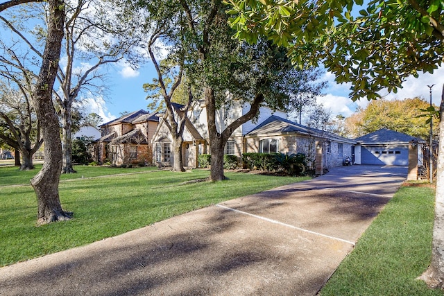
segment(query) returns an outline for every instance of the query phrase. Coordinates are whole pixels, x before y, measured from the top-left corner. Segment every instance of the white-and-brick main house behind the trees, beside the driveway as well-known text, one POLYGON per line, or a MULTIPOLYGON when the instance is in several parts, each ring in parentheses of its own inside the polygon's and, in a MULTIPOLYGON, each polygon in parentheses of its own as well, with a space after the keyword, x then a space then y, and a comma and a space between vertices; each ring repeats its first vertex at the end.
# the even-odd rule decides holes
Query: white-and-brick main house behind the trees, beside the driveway
MULTIPOLYGON (((183 116, 181 105, 175 105, 176 116, 183 116)), ((182 159, 184 166, 196 168, 198 155, 210 151, 207 131, 207 114, 205 103, 196 102, 188 112, 188 119, 183 134, 184 146, 182 159)), ((249 105, 234 103, 224 106, 216 112, 216 125, 219 131, 246 114, 249 105)), ((339 137, 330 132, 307 128, 289 121, 286 112, 274 111, 261 107, 256 119, 248 121, 232 132, 225 145, 225 154, 237 155, 243 153, 305 153, 311 165, 316 166, 320 173, 330 166, 341 166, 346 155, 352 155, 355 141, 339 137)), ((171 134, 161 119, 153 137, 155 162, 160 166, 171 166, 171 134)))

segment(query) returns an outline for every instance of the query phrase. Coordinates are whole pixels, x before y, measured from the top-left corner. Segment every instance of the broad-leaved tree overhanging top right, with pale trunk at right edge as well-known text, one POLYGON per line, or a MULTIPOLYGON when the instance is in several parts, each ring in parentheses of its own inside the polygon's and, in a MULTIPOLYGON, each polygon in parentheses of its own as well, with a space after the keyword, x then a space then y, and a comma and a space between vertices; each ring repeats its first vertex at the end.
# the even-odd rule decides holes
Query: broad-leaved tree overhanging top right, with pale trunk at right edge
MULTIPOLYGON (((289 47, 296 63, 323 62, 336 82, 351 82, 354 100, 396 92, 408 76, 443 63, 444 1, 371 0, 354 16, 363 2, 227 1, 236 37, 255 42, 267 35, 289 47)), ((444 86, 440 112, 432 262, 422 278, 444 288, 444 86)))

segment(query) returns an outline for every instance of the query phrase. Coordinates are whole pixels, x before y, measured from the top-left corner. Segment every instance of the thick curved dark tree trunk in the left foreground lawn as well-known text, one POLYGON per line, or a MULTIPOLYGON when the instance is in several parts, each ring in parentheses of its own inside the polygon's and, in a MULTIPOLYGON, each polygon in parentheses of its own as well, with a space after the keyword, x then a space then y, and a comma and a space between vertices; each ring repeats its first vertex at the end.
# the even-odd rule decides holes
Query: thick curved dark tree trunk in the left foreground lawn
POLYGON ((52 102, 53 84, 62 46, 65 3, 60 0, 49 0, 48 3, 50 13, 48 35, 33 96, 37 119, 42 126, 45 157, 42 170, 31 180, 37 195, 38 225, 67 220, 72 216, 72 213, 62 210, 58 193, 62 169, 62 144, 58 117, 52 102))

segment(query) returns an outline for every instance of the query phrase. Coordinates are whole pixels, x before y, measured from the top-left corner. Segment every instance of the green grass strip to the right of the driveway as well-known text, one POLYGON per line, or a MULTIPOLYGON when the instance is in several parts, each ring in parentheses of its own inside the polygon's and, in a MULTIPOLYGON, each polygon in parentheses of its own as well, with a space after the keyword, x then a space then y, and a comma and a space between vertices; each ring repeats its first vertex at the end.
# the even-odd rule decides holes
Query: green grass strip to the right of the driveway
POLYGON ((444 295, 416 280, 430 262, 433 220, 434 190, 403 186, 321 295, 444 295))

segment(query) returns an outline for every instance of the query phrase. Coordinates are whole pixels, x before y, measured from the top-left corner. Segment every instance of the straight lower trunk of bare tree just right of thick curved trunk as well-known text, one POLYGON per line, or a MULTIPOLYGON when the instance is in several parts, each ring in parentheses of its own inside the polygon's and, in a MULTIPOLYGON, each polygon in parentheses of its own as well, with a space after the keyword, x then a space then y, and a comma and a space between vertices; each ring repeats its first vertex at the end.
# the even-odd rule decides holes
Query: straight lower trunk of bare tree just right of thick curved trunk
POLYGON ((62 110, 62 174, 77 173, 72 167, 71 107, 62 110))

